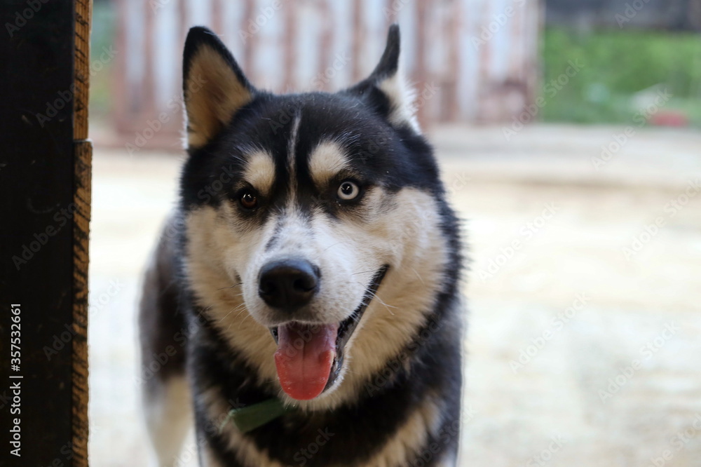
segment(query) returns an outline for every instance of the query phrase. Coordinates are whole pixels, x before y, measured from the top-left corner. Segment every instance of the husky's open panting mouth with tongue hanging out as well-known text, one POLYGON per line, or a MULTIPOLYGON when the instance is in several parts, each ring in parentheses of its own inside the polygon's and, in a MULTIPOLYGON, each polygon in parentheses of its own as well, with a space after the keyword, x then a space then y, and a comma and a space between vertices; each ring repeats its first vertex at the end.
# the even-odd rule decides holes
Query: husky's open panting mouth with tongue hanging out
POLYGON ((360 306, 341 323, 306 324, 291 321, 271 327, 273 339, 278 344, 278 351, 275 352, 278 379, 287 395, 297 400, 310 400, 333 386, 341 374, 346 344, 372 302, 388 268, 382 266, 375 273, 360 306))

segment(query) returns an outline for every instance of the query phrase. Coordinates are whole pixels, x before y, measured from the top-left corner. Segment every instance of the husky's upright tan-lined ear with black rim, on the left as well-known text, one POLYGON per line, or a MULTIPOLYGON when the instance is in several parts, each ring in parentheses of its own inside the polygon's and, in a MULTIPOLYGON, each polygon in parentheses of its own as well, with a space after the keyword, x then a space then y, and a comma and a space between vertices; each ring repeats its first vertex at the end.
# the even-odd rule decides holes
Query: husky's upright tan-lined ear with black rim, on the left
POLYGON ((255 92, 229 49, 206 27, 187 34, 182 89, 189 147, 212 140, 255 92))

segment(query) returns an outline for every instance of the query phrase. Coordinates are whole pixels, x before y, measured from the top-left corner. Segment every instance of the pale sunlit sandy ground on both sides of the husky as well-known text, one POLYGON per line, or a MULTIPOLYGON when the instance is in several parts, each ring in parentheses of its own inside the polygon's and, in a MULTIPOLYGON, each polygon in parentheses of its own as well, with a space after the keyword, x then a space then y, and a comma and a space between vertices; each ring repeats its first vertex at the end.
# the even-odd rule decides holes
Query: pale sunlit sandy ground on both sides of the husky
MULTIPOLYGON (((472 259, 461 466, 701 466, 701 135, 597 161, 622 130, 433 132, 472 259)), ((95 150, 94 466, 147 465, 135 305, 181 161, 95 150)))

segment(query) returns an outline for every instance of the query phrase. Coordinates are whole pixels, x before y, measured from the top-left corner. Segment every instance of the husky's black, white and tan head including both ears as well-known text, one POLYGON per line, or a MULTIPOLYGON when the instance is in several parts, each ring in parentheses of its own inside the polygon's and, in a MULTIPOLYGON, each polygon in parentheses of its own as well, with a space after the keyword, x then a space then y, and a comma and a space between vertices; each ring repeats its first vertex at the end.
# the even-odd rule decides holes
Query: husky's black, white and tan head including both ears
POLYGON ((395 26, 353 88, 272 95, 207 29, 186 41, 186 272, 231 344, 296 400, 332 393, 359 342, 353 372, 381 365, 440 291, 447 207, 398 57, 395 26))

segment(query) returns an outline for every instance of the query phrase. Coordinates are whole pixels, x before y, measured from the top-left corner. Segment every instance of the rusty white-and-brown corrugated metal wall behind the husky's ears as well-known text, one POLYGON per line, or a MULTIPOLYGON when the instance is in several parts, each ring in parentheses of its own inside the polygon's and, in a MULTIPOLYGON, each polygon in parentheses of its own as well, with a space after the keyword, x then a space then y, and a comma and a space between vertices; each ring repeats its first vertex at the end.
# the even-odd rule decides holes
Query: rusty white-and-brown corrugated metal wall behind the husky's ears
POLYGON ((538 0, 119 0, 118 12, 115 117, 137 147, 180 145, 192 25, 222 36, 257 87, 290 92, 367 76, 399 22, 424 126, 509 121, 533 102, 538 81, 538 0))

